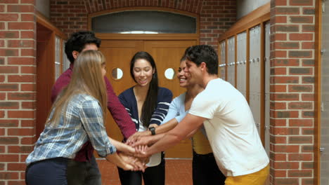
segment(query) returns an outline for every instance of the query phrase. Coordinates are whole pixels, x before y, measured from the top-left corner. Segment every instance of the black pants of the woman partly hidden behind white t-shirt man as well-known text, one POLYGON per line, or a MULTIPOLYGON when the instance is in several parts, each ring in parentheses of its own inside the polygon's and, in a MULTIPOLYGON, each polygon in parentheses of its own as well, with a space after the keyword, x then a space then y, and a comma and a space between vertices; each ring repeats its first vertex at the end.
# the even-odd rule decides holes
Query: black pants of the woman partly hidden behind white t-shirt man
POLYGON ((200 155, 193 151, 193 185, 221 185, 226 177, 219 170, 213 153, 200 155))

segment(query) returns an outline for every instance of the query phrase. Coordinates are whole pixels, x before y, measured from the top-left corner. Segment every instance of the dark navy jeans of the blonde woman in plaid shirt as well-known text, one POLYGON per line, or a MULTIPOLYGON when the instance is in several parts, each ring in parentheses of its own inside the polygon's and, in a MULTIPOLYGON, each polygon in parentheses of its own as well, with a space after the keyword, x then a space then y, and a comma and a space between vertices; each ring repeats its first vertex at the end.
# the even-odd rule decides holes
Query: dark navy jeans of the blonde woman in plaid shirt
POLYGON ((31 163, 26 168, 25 182, 28 185, 67 185, 67 158, 51 158, 31 163))

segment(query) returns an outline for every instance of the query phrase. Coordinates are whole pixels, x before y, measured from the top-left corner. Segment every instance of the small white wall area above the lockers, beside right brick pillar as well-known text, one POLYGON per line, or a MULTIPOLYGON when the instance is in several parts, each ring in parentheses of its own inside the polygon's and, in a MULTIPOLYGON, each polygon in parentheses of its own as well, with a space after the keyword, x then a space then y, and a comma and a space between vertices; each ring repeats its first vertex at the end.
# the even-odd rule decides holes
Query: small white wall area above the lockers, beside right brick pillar
POLYGON ((255 9, 269 3, 270 0, 236 0, 237 13, 236 18, 239 20, 255 9))

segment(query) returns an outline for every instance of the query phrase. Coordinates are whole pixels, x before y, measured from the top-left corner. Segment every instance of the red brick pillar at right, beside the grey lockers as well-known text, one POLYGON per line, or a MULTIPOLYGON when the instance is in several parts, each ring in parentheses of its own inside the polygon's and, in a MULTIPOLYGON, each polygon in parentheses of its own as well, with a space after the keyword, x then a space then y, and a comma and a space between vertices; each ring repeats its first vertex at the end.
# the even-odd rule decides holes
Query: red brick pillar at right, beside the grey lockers
POLYGON ((271 182, 314 184, 315 0, 271 0, 271 182))

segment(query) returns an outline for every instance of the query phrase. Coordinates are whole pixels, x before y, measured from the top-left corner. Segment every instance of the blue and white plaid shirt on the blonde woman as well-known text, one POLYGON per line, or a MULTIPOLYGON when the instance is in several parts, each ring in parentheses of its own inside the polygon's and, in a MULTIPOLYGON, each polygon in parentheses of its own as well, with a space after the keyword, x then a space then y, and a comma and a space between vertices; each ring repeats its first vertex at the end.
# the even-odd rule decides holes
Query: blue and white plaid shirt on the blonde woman
POLYGON ((45 125, 26 163, 28 165, 57 157, 75 158, 87 141, 91 142, 101 157, 116 151, 108 139, 103 123, 103 111, 98 101, 90 95, 79 94, 72 97, 67 104, 67 111, 62 111, 60 123, 56 127, 45 125))

